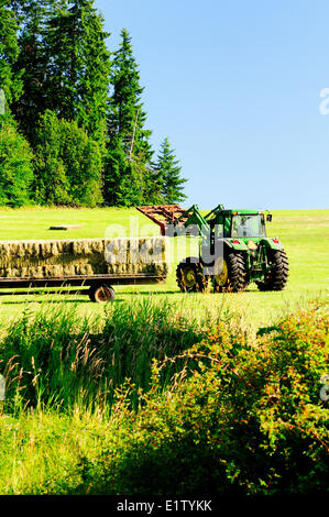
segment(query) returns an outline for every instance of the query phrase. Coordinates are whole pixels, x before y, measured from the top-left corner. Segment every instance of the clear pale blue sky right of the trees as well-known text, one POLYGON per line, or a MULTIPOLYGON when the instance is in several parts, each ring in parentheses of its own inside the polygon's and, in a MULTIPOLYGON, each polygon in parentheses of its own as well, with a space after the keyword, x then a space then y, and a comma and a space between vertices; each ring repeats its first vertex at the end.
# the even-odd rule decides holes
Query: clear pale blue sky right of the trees
POLYGON ((328 0, 96 7, 111 52, 123 26, 132 36, 147 129, 176 151, 184 206, 329 208, 328 0))

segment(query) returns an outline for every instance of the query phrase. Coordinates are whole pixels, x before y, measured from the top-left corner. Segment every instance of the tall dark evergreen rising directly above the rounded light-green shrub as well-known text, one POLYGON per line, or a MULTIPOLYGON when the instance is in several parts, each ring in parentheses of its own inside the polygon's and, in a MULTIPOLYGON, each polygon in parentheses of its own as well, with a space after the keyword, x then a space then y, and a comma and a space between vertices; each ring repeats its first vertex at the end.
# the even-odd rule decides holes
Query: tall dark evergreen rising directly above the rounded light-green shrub
POLYGON ((103 20, 94 0, 64 2, 55 10, 45 34, 52 56, 48 66, 47 108, 76 120, 105 144, 110 54, 103 20))

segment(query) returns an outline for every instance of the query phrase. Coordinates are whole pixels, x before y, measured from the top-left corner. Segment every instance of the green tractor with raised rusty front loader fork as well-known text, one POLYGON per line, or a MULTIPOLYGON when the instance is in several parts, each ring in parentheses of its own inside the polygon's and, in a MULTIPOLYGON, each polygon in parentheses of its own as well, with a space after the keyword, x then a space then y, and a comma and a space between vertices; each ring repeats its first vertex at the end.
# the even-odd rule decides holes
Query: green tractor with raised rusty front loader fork
POLYGON ((283 290, 288 279, 288 260, 277 238, 267 238, 265 219, 259 210, 226 210, 219 205, 202 216, 196 205, 138 207, 160 224, 162 234, 198 235, 198 256, 177 266, 183 292, 241 292, 254 282, 260 290, 283 290))

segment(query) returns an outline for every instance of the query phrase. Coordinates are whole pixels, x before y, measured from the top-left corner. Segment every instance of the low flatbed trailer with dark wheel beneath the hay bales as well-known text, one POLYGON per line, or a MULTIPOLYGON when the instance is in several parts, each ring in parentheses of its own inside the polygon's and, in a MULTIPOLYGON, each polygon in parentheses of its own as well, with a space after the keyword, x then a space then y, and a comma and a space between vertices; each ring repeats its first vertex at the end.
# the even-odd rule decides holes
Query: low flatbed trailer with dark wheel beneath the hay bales
MULTIPOLYGON (((113 300, 116 293, 113 285, 150 285, 160 284, 165 282, 165 275, 154 275, 147 273, 139 274, 106 274, 106 275, 76 275, 76 276, 63 276, 63 277, 48 277, 48 278, 7 278, 0 277, 0 289, 19 289, 19 288, 46 288, 46 287, 89 287, 86 289, 86 294, 89 296, 91 301, 105 302, 113 300)), ((6 294, 13 294, 13 290, 9 290, 6 294)), ((33 294, 33 292, 28 292, 33 294)), ((24 293, 24 294, 28 294, 24 293)), ((19 294, 19 293, 18 293, 19 294)), ((62 294, 67 294, 67 290, 63 290, 62 294)))

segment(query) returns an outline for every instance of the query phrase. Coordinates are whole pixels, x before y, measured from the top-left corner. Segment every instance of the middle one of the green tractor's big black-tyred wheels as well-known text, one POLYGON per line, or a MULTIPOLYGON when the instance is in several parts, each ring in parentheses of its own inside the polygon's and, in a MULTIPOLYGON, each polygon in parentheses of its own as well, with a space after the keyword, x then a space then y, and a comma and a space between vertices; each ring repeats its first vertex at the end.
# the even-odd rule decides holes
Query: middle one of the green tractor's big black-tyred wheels
MULTIPOLYGON (((220 261, 221 262, 221 261, 220 261)), ((217 293, 243 290, 248 285, 245 261, 242 253, 224 253, 219 274, 213 275, 217 293)))

